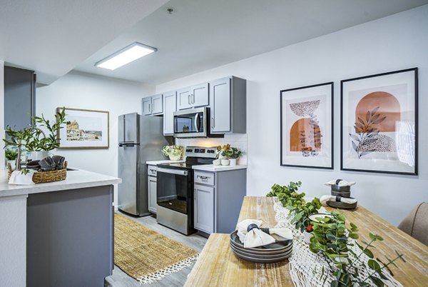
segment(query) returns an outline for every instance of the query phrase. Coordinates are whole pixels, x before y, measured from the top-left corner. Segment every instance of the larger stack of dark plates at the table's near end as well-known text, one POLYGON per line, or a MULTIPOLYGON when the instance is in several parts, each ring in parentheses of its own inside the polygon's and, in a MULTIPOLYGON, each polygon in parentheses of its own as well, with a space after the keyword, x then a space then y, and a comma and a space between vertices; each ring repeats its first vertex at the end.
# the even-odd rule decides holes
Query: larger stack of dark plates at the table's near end
POLYGON ((230 248, 239 258, 255 263, 275 263, 290 257, 292 253, 292 240, 277 240, 265 246, 244 248, 239 240, 238 231, 230 233, 230 248))

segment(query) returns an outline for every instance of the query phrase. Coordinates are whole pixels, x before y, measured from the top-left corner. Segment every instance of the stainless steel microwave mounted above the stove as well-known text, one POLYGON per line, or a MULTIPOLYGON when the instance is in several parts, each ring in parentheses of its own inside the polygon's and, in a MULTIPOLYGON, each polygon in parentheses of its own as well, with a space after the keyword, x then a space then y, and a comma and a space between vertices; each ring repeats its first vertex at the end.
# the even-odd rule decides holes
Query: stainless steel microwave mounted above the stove
POLYGON ((174 112, 175 138, 223 137, 210 134, 210 108, 186 109, 174 112))

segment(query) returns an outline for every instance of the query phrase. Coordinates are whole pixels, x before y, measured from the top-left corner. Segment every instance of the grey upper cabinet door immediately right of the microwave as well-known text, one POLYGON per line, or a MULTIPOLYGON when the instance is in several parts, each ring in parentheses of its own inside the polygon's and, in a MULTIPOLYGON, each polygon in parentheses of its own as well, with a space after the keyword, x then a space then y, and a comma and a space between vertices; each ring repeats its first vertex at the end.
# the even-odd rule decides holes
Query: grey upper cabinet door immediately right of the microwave
POLYGON ((230 131, 230 78, 210 82, 210 113, 212 133, 230 131))

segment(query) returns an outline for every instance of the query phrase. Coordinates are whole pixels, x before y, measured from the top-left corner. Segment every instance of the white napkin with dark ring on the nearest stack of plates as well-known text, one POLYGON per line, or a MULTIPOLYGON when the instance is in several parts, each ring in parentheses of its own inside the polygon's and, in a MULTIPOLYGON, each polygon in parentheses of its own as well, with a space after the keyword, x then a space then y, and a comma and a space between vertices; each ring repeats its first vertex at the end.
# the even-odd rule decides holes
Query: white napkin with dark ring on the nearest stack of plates
POLYGON ((241 242, 244 243, 244 248, 252 248, 258 246, 264 246, 270 243, 274 243, 276 240, 270 234, 277 234, 285 239, 292 239, 292 232, 287 228, 269 228, 267 234, 258 228, 253 228, 250 232, 247 232, 247 228, 250 224, 255 224, 259 228, 262 226, 263 221, 256 219, 245 219, 238 223, 238 237, 241 242))

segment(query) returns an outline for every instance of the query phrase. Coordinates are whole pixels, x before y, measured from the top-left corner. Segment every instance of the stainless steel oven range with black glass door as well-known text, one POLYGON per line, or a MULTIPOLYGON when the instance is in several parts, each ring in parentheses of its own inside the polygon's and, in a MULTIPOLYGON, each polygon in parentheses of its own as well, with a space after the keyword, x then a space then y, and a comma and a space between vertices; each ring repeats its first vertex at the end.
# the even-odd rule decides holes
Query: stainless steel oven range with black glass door
POLYGON ((216 151, 215 147, 188 146, 184 163, 158 164, 158 223, 185 235, 195 233, 192 166, 212 164, 216 151))

